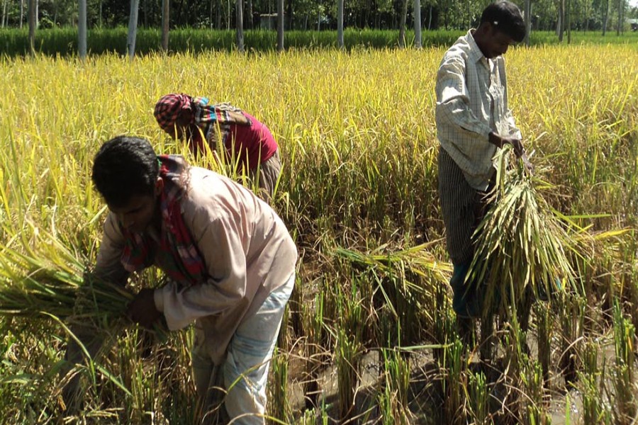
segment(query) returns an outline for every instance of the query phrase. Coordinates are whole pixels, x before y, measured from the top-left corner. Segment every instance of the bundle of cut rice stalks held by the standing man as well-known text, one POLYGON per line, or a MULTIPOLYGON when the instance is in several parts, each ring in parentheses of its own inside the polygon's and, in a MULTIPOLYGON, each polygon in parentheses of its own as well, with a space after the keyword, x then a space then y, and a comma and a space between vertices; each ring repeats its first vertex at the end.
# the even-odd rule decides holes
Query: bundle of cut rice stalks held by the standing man
POLYGON ((522 164, 508 167, 510 149, 498 153, 496 187, 474 232, 474 260, 466 276, 486 285, 479 292, 491 309, 515 307, 529 290, 537 297, 578 291, 570 261, 578 249, 568 227, 539 193, 552 185, 527 173, 522 164))

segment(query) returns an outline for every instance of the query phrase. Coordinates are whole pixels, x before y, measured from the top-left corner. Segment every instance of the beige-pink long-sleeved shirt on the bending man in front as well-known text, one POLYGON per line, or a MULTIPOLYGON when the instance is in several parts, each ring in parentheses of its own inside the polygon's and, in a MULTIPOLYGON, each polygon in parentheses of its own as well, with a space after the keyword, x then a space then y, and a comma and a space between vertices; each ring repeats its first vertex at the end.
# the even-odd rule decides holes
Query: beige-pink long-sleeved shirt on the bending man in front
MULTIPOLYGON (((169 329, 198 320, 208 353, 218 363, 242 320, 290 278, 297 251, 284 222, 267 203, 213 171, 189 168, 187 194, 180 203, 184 224, 206 264, 206 279, 156 289, 155 306, 169 329)), ((98 276, 120 283, 128 277, 120 261, 124 244, 117 217, 109 213, 95 267, 98 276)), ((166 266, 161 261, 155 259, 159 268, 166 266)))

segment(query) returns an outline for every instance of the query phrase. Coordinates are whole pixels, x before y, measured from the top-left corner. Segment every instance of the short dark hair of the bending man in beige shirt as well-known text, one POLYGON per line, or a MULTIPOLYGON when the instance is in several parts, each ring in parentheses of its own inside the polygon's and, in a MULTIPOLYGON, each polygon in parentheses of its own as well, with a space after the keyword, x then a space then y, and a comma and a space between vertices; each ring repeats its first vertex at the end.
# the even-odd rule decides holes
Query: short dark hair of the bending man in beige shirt
POLYGON ((150 142, 118 136, 95 155, 91 179, 106 203, 119 208, 133 196, 152 195, 157 176, 159 164, 150 142))

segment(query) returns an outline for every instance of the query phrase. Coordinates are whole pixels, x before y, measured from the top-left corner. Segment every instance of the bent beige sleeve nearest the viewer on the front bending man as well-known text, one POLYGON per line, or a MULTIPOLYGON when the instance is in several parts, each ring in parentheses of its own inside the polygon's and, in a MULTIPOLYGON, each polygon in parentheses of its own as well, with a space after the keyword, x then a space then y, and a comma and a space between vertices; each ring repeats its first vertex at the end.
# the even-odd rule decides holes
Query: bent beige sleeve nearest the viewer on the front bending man
POLYGON ((157 310, 164 312, 169 329, 181 329, 200 317, 224 314, 248 307, 246 254, 237 222, 230 212, 201 208, 194 216, 191 232, 196 239, 208 278, 201 284, 169 283, 155 290, 157 310))

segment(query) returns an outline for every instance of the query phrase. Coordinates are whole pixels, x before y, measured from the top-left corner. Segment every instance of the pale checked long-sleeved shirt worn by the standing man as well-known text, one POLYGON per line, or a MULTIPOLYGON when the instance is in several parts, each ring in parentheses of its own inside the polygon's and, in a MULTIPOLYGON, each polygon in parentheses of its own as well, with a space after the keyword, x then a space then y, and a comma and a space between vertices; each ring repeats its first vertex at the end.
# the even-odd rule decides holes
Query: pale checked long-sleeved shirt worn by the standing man
POLYGON ((521 138, 508 108, 503 57, 487 59, 473 30, 445 52, 437 73, 437 136, 470 186, 484 191, 493 174, 496 146, 490 132, 521 138))

